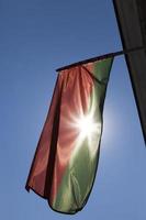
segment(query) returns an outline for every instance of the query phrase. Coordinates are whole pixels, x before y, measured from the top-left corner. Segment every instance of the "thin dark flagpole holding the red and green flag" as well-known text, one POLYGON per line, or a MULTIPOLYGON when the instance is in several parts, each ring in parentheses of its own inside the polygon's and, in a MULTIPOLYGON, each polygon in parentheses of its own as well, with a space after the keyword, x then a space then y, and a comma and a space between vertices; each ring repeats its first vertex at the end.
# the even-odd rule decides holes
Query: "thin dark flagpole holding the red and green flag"
POLYGON ((146 47, 145 46, 138 46, 138 47, 135 47, 135 48, 123 50, 123 51, 119 51, 119 52, 114 52, 114 53, 109 53, 109 54, 96 56, 96 57, 88 58, 88 59, 85 59, 85 61, 80 61, 80 62, 77 62, 77 63, 74 63, 74 64, 70 64, 70 65, 67 65, 67 66, 63 66, 60 68, 57 68, 56 72, 61 72, 64 69, 67 69, 67 68, 70 68, 70 67, 75 67, 77 65, 82 65, 82 64, 86 64, 86 63, 96 62, 96 61, 103 59, 103 58, 110 58, 110 57, 114 57, 114 56, 127 55, 130 53, 133 53, 133 52, 136 52, 136 51, 141 51, 141 50, 146 50, 146 47))

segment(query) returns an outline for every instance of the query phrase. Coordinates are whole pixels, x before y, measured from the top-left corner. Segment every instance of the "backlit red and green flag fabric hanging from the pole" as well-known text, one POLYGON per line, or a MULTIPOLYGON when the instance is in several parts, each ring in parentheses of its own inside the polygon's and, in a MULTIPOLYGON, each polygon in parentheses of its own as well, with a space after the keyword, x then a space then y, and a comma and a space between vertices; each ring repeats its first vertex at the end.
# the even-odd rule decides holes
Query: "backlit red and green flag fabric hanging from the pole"
POLYGON ((100 153, 103 103, 112 58, 58 73, 26 189, 55 211, 76 213, 91 193, 100 153))

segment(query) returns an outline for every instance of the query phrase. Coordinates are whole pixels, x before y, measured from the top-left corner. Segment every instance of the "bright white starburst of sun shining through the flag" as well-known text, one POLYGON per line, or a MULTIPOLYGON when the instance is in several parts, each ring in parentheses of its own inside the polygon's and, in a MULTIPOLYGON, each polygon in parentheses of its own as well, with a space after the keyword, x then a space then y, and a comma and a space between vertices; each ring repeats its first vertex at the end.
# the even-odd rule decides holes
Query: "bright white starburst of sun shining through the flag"
POLYGON ((96 106, 88 112, 83 112, 82 109, 78 110, 78 113, 68 113, 68 120, 66 125, 68 129, 72 130, 76 134, 76 147, 72 153, 72 160, 78 154, 81 147, 88 147, 90 151, 90 156, 94 156, 98 151, 100 135, 101 135, 101 117, 97 116, 96 106))

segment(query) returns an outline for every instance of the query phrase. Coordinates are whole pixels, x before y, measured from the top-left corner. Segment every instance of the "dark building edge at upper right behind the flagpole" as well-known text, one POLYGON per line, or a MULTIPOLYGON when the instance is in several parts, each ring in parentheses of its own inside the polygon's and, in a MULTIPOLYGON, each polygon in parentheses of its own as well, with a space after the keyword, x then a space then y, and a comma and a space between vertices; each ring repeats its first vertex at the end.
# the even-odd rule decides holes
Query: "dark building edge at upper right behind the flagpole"
MULTIPOLYGON (((146 46, 146 0, 113 0, 124 50, 146 46)), ((125 55, 146 143, 146 51, 125 55)))

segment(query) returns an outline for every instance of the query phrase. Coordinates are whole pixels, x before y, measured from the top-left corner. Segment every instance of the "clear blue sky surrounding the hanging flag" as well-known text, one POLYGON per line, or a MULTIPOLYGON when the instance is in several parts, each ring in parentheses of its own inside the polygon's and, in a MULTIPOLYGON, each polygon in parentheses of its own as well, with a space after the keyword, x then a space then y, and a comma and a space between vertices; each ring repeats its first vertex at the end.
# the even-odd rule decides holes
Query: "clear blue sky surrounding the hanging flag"
POLYGON ((76 216, 24 189, 57 67, 122 48, 112 1, 0 0, 0 218, 144 220, 146 148, 124 57, 104 106, 94 187, 76 216))

